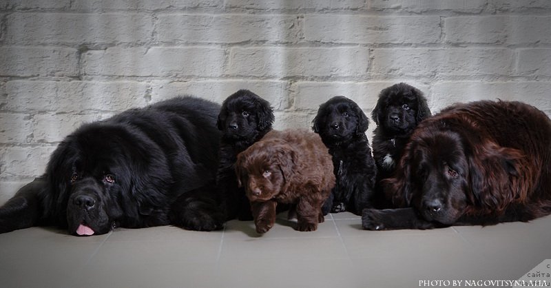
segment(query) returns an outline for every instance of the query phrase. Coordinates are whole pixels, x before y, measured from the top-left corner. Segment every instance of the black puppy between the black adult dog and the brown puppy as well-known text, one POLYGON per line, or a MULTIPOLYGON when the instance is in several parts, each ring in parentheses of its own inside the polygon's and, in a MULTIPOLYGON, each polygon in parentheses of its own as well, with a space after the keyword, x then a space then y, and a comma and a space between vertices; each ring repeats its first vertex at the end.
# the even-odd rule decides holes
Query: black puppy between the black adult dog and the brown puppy
POLYGON ((216 123, 222 131, 216 183, 227 220, 253 220, 249 199, 245 190, 238 187, 234 166, 237 154, 271 131, 274 120, 270 103, 249 90, 239 90, 222 103, 216 123))

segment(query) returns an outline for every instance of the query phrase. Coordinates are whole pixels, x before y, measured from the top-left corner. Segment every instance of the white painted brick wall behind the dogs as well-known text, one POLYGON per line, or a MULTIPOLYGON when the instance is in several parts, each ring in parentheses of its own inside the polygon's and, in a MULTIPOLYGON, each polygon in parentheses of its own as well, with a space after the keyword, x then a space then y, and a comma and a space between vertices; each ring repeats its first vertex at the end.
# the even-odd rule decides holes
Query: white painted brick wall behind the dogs
MULTIPOLYGON (((247 88, 275 127, 405 81, 433 112, 520 100, 551 115, 548 0, 0 0, 0 203, 82 123, 247 88)), ((368 135, 374 129, 369 127, 368 135)))

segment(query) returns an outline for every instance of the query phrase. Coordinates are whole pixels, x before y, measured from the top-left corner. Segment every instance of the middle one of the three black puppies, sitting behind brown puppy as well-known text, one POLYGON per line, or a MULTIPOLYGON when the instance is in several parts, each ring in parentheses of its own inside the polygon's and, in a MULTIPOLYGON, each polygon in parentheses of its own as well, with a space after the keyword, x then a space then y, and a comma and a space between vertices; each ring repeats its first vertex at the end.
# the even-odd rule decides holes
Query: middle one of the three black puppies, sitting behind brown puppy
POLYGON ((371 207, 377 167, 365 134, 368 124, 366 114, 344 96, 320 105, 312 129, 329 148, 337 178, 322 207, 324 215, 344 211, 360 215, 364 208, 371 207))

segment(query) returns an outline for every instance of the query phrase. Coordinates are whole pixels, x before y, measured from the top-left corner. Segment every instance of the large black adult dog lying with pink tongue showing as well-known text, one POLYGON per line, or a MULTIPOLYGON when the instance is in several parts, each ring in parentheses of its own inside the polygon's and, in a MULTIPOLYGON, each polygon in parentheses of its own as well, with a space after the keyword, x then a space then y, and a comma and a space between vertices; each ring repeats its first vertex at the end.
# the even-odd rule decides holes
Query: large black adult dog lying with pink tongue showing
POLYGON ((219 110, 184 96, 82 125, 59 144, 44 176, 0 208, 0 233, 38 225, 74 235, 169 224, 220 229, 219 110))

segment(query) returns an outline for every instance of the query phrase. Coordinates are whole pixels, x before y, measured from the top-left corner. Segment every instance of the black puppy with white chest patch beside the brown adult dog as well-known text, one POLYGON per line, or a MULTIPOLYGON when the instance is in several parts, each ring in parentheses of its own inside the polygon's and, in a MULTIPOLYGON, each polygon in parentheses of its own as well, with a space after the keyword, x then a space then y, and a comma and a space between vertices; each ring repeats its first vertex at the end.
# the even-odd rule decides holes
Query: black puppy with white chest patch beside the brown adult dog
POLYGON ((398 83, 381 91, 371 112, 371 118, 377 123, 373 131, 373 158, 378 179, 392 176, 409 136, 428 116, 426 99, 417 88, 398 83))

